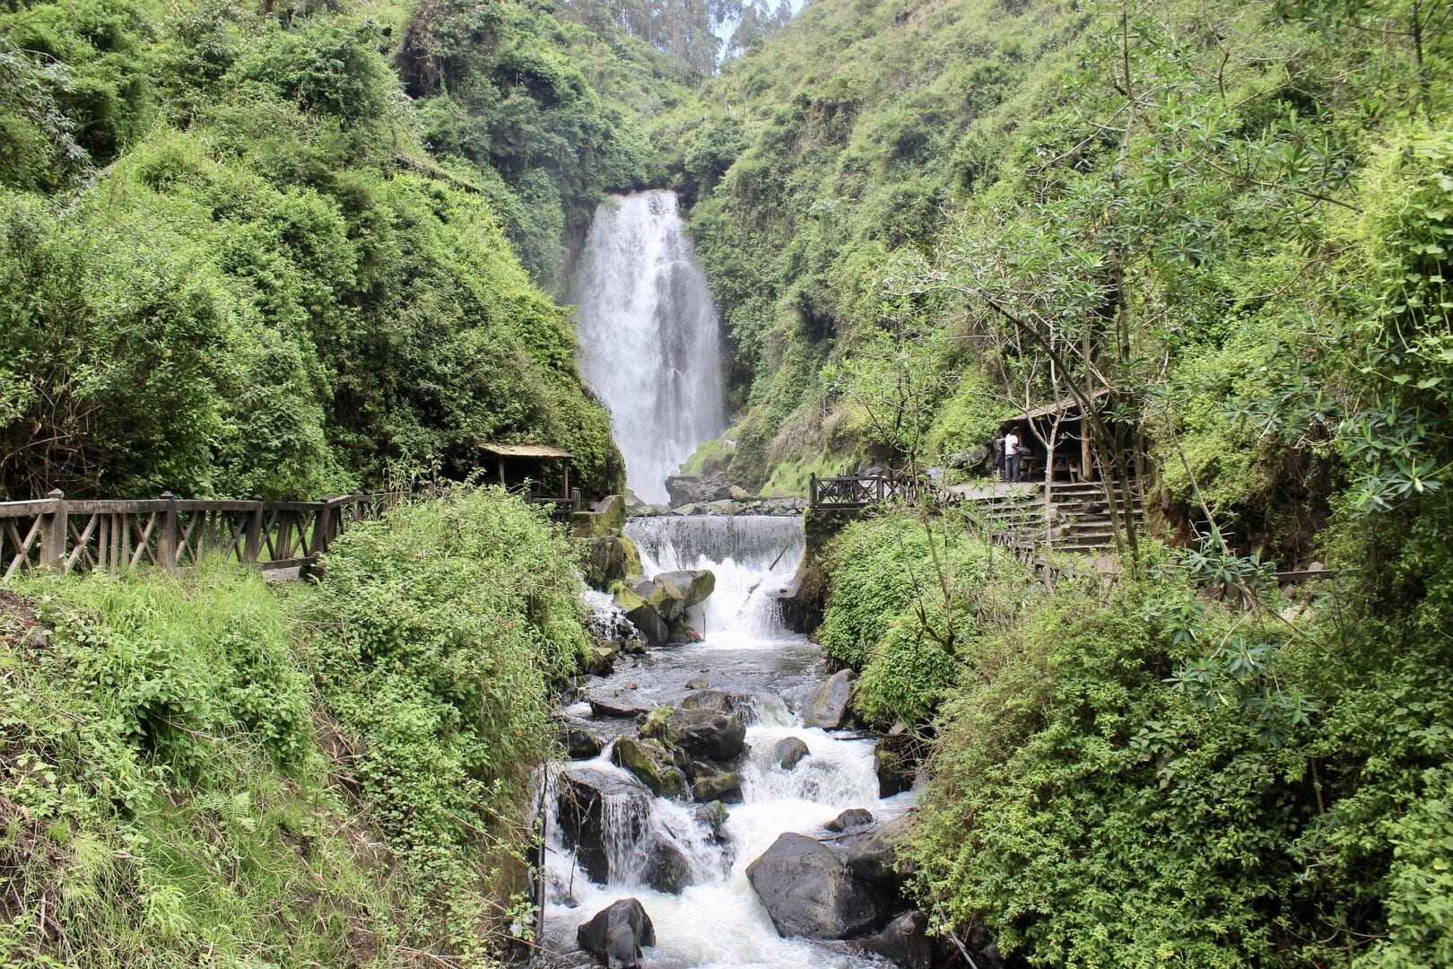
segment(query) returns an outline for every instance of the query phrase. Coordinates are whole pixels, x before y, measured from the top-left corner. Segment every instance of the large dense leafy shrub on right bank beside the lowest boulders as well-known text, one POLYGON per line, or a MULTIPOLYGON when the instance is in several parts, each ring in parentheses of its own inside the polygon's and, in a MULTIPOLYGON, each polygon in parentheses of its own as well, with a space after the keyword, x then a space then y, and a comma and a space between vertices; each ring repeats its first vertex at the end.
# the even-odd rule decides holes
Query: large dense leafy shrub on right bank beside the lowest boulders
POLYGON ((939 723, 920 889, 1036 963, 1270 959, 1316 811, 1305 753, 1162 684, 1177 654, 1136 619, 1142 594, 1061 588, 979 645, 939 723))

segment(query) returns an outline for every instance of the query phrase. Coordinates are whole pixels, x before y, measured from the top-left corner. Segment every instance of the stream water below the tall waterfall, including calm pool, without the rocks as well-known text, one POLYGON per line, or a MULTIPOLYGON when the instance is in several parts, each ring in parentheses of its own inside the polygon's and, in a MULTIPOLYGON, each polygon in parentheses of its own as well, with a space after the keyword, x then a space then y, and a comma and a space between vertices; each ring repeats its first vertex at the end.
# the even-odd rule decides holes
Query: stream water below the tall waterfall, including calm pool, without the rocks
MULTIPOLYGON (((806 728, 799 699, 830 671, 821 649, 805 636, 785 632, 772 610, 773 594, 790 578, 802 555, 796 519, 651 519, 632 522, 628 533, 641 549, 648 574, 674 568, 711 568, 716 591, 695 619, 705 639, 664 646, 618 664, 609 677, 591 677, 575 705, 562 713, 606 738, 594 760, 555 764, 554 786, 581 771, 615 779, 636 790, 634 808, 603 809, 606 854, 616 859, 607 883, 593 882, 562 837, 556 811, 546 816, 546 909, 539 962, 548 966, 599 965, 575 949, 575 931, 618 899, 638 899, 649 915, 657 944, 645 949, 654 969, 857 969, 892 963, 844 941, 779 936, 747 876, 747 867, 777 840, 796 831, 827 837, 824 825, 847 808, 866 808, 878 821, 910 809, 914 793, 878 796, 870 737, 853 731, 806 728), (590 700, 618 710, 679 706, 700 690, 722 690, 735 699, 745 721, 745 753, 732 764, 741 780, 741 802, 726 805, 719 837, 689 800, 639 792, 638 782, 612 763, 612 745, 635 735, 631 716, 596 716, 590 700), (806 755, 783 767, 779 741, 798 738, 806 755), (616 811, 619 816, 612 815, 616 811), (655 840, 670 841, 687 859, 679 893, 644 883, 642 853, 655 840)), ((546 798, 554 805, 555 798, 546 798)))

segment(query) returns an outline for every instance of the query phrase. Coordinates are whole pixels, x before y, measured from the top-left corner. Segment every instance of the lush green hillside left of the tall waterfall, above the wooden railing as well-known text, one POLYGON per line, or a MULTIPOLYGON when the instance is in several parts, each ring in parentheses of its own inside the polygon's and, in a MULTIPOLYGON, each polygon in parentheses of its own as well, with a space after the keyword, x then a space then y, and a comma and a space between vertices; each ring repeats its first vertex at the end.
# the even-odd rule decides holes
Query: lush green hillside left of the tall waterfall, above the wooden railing
MULTIPOLYGON (((568 447, 587 487, 619 478, 568 317, 516 256, 556 282, 561 203, 530 186, 558 189, 504 154, 575 157, 593 131, 600 163, 556 176, 578 209, 642 177, 639 139, 565 60, 564 93, 491 74, 488 137, 455 134, 498 148, 434 161, 446 106, 391 65, 424 13, 373 13, 0 15, 0 494, 317 497, 458 475, 511 437, 568 447)), ((539 26, 495 41, 554 64, 578 39, 539 26)))

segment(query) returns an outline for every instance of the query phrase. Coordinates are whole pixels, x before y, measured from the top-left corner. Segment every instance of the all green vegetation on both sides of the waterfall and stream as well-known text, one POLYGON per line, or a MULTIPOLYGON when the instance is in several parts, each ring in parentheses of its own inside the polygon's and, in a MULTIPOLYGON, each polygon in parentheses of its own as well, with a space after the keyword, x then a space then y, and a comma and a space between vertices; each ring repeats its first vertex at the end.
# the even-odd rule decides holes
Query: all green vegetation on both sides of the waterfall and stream
MULTIPOLYGON (((604 192, 670 182, 734 350, 692 469, 801 492, 1067 395, 1104 466, 1146 459, 1114 580, 1032 577, 969 510, 827 556, 824 646, 933 750, 937 924, 1045 966, 1453 965, 1450 19, 12 4, 0 494, 315 497, 491 439, 613 487, 548 293, 604 192), (1270 580, 1314 559, 1337 580, 1270 580)), ((0 956, 490 952, 583 645, 570 558, 449 492, 280 600, 22 584, 0 956)))

